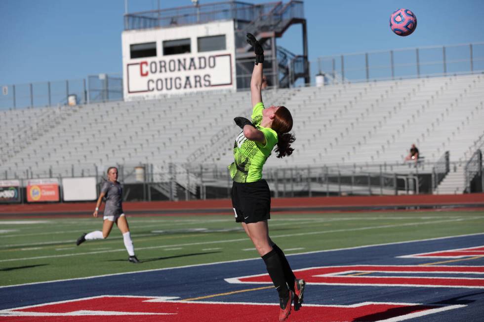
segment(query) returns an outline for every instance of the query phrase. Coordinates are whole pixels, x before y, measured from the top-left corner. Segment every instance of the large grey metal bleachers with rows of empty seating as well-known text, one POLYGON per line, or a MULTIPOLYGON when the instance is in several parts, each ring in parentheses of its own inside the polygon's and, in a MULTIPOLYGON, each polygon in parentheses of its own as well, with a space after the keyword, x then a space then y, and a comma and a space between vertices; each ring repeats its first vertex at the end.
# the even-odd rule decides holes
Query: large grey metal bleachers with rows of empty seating
MULTIPOLYGON (((425 162, 445 151, 464 162, 483 134, 482 93, 483 74, 265 90, 266 105, 291 110, 296 135, 293 155, 270 158, 267 167, 391 163, 405 172, 411 143, 425 162)), ((248 92, 1 111, 0 174, 93 175, 112 164, 222 167, 232 162, 240 131, 233 117, 250 112, 248 92)))

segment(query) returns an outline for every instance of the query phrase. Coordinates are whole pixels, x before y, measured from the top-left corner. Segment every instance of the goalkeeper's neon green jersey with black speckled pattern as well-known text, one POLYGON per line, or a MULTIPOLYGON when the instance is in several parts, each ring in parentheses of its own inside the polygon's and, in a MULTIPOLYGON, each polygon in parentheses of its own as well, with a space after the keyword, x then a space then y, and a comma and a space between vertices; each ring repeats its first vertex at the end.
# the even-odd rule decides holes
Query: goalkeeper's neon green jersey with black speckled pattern
POLYGON ((276 131, 260 126, 264 104, 257 103, 252 110, 252 123, 264 134, 266 144, 250 141, 243 131, 234 143, 234 162, 229 166, 230 176, 236 182, 254 182, 262 178, 262 167, 278 142, 276 131))

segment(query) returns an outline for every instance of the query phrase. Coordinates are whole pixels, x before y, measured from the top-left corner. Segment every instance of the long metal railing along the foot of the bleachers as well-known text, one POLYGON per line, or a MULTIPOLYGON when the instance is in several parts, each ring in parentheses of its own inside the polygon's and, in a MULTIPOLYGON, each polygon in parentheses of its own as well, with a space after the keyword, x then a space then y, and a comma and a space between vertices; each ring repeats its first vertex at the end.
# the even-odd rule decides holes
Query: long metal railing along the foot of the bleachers
MULTIPOLYGON (((476 178, 479 171, 482 176, 482 164, 479 168, 478 158, 476 160, 473 160, 472 169, 471 166, 466 168, 470 180, 476 178)), ((448 167, 455 165, 450 162, 448 167)), ((116 166, 127 201, 214 199, 231 195, 232 179, 227 167, 175 163, 116 166)), ((400 163, 268 168, 263 178, 274 197, 421 194, 433 192, 435 177, 432 172, 438 167, 438 163, 417 168, 413 163, 400 163)), ((106 170, 107 166, 94 164, 72 165, 62 171, 55 167, 46 173, 26 171, 20 178, 12 178, 5 172, 0 174, 0 179, 56 178, 62 182, 62 178, 95 177, 101 182, 106 170)))

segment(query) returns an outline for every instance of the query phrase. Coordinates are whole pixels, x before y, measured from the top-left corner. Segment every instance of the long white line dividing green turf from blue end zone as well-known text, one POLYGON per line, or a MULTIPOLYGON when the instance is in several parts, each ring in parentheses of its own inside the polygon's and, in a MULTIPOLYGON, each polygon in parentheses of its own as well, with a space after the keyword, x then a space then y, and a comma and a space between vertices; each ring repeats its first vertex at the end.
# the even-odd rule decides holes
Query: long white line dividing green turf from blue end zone
MULTIPOLYGON (((306 252, 300 252, 300 253, 295 253, 295 254, 287 254, 287 256, 306 255, 306 254, 314 254, 314 253, 319 253, 319 252, 331 252, 331 251, 340 251, 340 250, 358 250, 358 249, 362 249, 362 248, 371 248, 371 247, 388 246, 388 245, 401 245, 401 244, 419 243, 419 242, 427 242, 427 241, 442 240, 442 239, 449 239, 449 238, 460 238, 460 237, 478 236, 478 235, 484 235, 484 233, 474 233, 474 234, 464 234, 464 235, 455 235, 455 236, 435 237, 435 238, 427 238, 427 239, 416 239, 416 240, 410 240, 410 241, 404 241, 404 242, 393 242, 393 243, 363 245, 363 246, 355 246, 355 247, 347 247, 347 248, 338 248, 338 249, 333 249, 333 250, 314 250, 314 251, 306 251, 306 252)), ((240 239, 240 240, 246 240, 246 238, 243 238, 243 239, 240 239)), ((227 241, 223 241, 223 242, 227 242, 227 241)), ((118 250, 118 251, 125 251, 125 250, 123 249, 123 250, 118 250)), ((85 254, 87 254, 87 253, 85 253, 85 254)), ((62 279, 62 280, 53 280, 53 281, 45 281, 45 282, 33 282, 33 283, 6 285, 6 286, 0 286, 0 288, 15 287, 15 286, 26 286, 26 285, 36 285, 36 284, 45 284, 45 283, 57 283, 57 282, 66 282, 66 281, 88 280, 88 279, 101 278, 101 277, 109 277, 109 276, 117 276, 117 275, 123 275, 123 274, 137 274, 137 273, 146 273, 146 272, 157 272, 157 271, 164 271, 164 270, 170 270, 170 269, 190 268, 190 267, 199 267, 199 266, 210 266, 210 265, 218 265, 218 264, 226 264, 226 263, 237 263, 237 262, 243 262, 243 261, 248 261, 248 260, 259 260, 259 259, 260 259, 260 257, 245 258, 245 259, 235 259, 235 260, 227 260, 227 261, 214 262, 214 263, 193 264, 193 265, 185 265, 185 266, 175 266, 175 267, 165 267, 165 268, 148 269, 148 270, 142 270, 142 271, 133 271, 133 272, 124 272, 124 273, 114 273, 114 274, 96 275, 96 276, 88 276, 88 277, 78 277, 78 278, 73 278, 73 279, 62 279)), ((307 306, 307 304, 306 304, 306 306, 307 306)))

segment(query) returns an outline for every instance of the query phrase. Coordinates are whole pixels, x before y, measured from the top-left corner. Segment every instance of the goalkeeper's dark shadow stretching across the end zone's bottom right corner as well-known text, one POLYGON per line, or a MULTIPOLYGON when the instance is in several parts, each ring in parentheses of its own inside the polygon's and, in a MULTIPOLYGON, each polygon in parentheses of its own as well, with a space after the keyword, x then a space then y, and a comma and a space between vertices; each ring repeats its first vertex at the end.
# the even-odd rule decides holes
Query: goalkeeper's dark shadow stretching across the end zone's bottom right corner
POLYGON ((363 317, 356 318, 353 321, 380 321, 380 320, 387 320, 387 319, 399 317, 405 314, 415 313, 422 309, 435 308, 436 306, 467 305, 467 304, 476 302, 476 300, 464 300, 463 299, 464 297, 480 295, 480 294, 484 294, 484 292, 477 292, 477 293, 466 294, 462 296, 451 297, 449 299, 445 299, 439 302, 433 302, 429 304, 420 304, 420 305, 414 305, 414 306, 393 308, 393 309, 386 310, 384 312, 365 315, 363 317))

